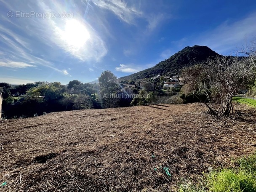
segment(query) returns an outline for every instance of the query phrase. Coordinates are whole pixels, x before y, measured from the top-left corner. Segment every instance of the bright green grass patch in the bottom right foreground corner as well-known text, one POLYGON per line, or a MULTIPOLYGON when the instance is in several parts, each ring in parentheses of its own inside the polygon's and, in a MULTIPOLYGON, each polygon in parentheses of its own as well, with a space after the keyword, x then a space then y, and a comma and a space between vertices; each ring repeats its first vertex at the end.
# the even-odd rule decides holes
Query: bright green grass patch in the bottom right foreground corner
POLYGON ((256 192, 256 154, 235 162, 235 168, 212 171, 197 184, 182 184, 179 192, 256 192))

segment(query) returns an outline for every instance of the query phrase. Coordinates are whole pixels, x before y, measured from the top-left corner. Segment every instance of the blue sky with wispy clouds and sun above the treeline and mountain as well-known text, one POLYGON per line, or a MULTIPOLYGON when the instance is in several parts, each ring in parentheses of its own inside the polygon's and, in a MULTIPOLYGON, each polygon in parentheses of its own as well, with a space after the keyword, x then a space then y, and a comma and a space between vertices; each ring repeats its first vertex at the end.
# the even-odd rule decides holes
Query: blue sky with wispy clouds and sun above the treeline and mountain
POLYGON ((255 38, 255 0, 0 0, 0 82, 122 77, 186 46, 229 55, 255 38))

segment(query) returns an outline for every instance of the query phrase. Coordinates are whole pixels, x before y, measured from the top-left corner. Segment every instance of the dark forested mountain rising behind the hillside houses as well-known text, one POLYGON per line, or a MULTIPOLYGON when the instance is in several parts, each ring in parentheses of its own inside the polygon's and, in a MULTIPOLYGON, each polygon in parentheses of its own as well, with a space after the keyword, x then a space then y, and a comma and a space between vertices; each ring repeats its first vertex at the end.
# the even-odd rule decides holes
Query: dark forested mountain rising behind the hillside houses
POLYGON ((176 69, 179 72, 182 68, 189 67, 195 64, 200 64, 209 57, 219 56, 218 53, 211 50, 207 46, 195 45, 193 47, 185 47, 178 53, 175 53, 169 59, 165 59, 158 63, 155 67, 145 69, 143 71, 120 77, 118 80, 137 80, 143 78, 149 78, 155 75, 171 75, 175 73, 176 69))

